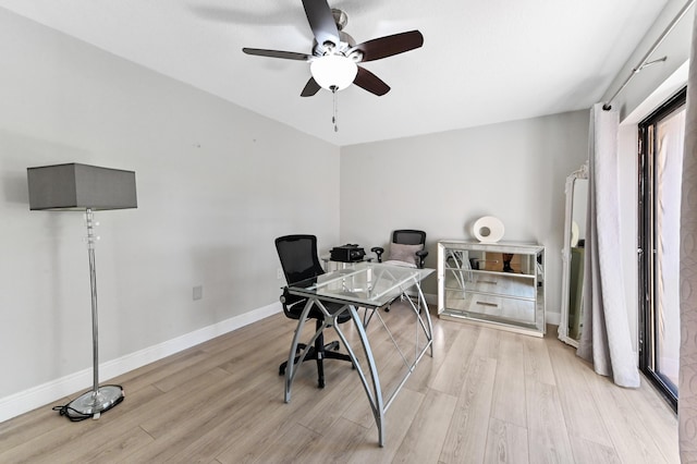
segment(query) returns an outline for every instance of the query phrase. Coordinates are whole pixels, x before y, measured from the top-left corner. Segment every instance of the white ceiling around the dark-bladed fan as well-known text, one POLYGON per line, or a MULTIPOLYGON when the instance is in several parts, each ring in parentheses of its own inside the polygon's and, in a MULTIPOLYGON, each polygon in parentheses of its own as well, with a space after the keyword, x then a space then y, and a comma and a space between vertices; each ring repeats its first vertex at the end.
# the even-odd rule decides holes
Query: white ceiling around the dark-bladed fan
POLYGON ((589 108, 668 0, 330 0, 357 42, 419 29, 424 47, 362 64, 392 89, 299 97, 310 53, 301 0, 0 0, 62 30, 344 146, 589 108))

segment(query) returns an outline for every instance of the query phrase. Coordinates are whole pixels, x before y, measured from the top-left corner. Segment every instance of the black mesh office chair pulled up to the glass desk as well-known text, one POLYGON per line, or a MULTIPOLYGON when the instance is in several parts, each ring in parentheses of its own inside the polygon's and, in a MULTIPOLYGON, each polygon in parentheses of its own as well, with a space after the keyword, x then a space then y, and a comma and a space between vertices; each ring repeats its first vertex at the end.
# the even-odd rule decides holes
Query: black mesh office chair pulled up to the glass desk
MULTIPOLYGON (((291 284, 299 282, 305 279, 311 279, 314 277, 325 273, 319 258, 317 257, 317 237, 315 235, 285 235, 276 239, 276 249, 279 253, 279 259, 281 260, 281 267, 285 274, 285 281, 291 284)), ((296 295, 291 295, 288 286, 283 289, 281 295, 281 303, 283 304, 283 313, 291 319, 299 319, 307 303, 307 298, 296 295)), ((327 310, 331 314, 338 312, 344 307, 339 303, 323 303, 327 310)), ((325 315, 317 307, 313 306, 309 310, 308 317, 316 319, 315 330, 322 328, 325 315)), ((351 319, 351 315, 346 312, 337 318, 337 322, 343 323, 351 319)), ((305 350, 305 344, 298 344, 298 352, 305 350)), ((347 354, 339 353, 339 342, 334 341, 325 344, 325 337, 322 333, 315 340, 315 346, 311 346, 305 356, 304 361, 316 359, 317 361, 317 382, 319 388, 325 388, 325 368, 322 366, 322 359, 343 359, 351 362, 351 357, 347 354)), ((297 353, 296 353, 297 354, 297 353)), ((294 363, 297 364, 299 355, 295 356, 294 363)), ((279 366, 279 375, 285 374, 288 367, 288 361, 279 366)))

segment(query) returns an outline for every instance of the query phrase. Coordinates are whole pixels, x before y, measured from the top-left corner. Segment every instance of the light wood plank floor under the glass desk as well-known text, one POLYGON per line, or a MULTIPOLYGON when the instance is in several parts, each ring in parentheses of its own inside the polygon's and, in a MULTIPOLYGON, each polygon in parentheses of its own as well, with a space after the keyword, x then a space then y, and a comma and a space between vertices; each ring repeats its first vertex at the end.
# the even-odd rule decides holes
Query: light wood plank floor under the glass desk
MULTIPOLYGON (((433 357, 388 411, 384 448, 345 362, 325 362, 323 390, 304 365, 283 403, 278 365, 294 321, 277 315, 103 382, 126 398, 98 420, 60 417, 51 406, 64 399, 0 424, 0 462, 680 462, 676 417, 647 382, 621 389, 595 375, 555 328, 537 339, 433 325, 433 357)), ((371 335, 376 357, 396 365, 388 338, 371 335)))

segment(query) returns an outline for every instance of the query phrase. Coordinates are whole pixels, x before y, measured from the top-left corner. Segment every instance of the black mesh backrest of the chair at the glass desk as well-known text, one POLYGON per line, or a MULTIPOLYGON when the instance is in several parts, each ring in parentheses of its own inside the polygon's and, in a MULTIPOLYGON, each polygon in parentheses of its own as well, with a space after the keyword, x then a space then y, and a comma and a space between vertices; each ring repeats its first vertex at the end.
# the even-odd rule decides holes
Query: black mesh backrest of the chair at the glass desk
POLYGON ((315 235, 280 236, 276 239, 276 249, 289 284, 325 273, 317 257, 315 235))

